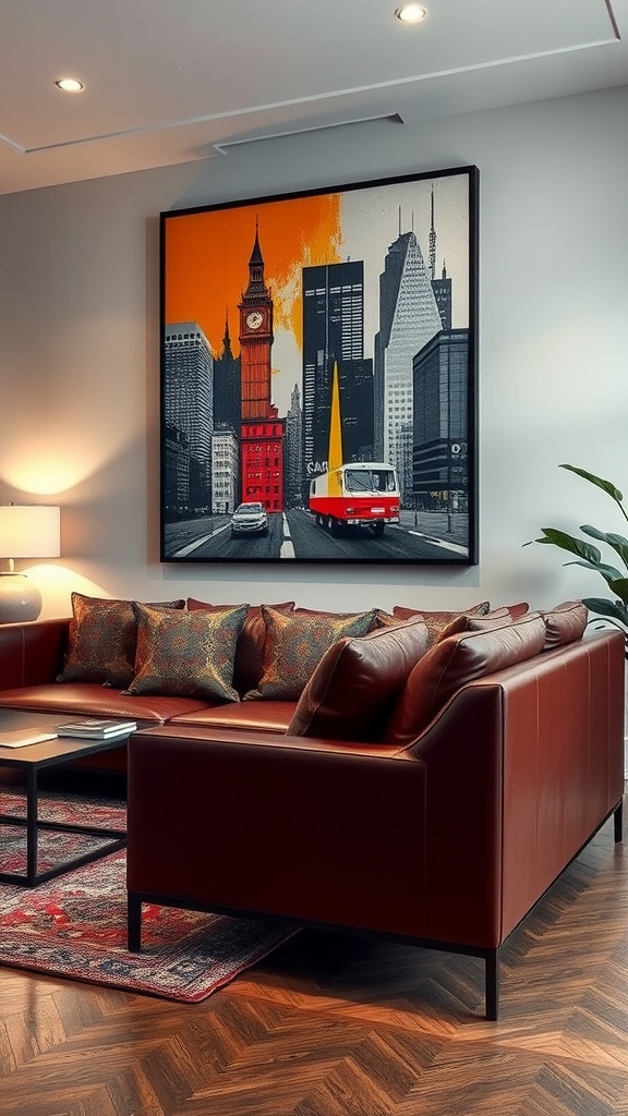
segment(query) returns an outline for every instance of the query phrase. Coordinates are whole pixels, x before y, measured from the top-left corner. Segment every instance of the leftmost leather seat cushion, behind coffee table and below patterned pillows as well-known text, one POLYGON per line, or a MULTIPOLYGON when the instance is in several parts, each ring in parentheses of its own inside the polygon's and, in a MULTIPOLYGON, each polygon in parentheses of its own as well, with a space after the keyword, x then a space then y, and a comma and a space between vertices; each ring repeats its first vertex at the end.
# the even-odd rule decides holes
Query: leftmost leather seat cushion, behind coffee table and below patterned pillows
POLYGON ((74 713, 76 716, 123 716, 134 721, 170 721, 179 713, 204 709, 207 702, 191 698, 129 698, 95 682, 67 682, 20 686, 0 691, 0 709, 30 709, 39 713, 74 713))

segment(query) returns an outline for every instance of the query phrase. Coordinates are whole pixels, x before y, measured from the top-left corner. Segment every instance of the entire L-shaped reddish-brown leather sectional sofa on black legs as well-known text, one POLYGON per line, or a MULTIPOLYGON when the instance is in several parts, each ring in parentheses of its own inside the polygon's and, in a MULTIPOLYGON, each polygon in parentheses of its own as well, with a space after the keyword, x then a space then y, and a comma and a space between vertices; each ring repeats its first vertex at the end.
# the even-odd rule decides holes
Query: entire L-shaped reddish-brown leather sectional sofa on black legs
POLYGON ((144 902, 393 935, 483 958, 496 1019, 504 942, 611 815, 621 839, 624 639, 582 626, 465 618, 426 652, 415 618, 339 641, 297 701, 211 704, 55 682, 68 620, 4 625, 0 708, 142 727, 107 753, 131 949, 144 902))

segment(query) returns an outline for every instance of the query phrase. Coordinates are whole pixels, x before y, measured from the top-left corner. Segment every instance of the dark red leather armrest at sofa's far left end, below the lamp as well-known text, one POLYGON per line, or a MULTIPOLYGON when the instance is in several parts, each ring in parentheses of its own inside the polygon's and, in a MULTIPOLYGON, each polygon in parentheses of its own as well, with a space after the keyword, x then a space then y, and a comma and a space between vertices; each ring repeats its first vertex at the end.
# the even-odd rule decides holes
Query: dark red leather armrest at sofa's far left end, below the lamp
POLYGON ((0 689, 54 682, 67 650, 69 617, 0 624, 0 689))

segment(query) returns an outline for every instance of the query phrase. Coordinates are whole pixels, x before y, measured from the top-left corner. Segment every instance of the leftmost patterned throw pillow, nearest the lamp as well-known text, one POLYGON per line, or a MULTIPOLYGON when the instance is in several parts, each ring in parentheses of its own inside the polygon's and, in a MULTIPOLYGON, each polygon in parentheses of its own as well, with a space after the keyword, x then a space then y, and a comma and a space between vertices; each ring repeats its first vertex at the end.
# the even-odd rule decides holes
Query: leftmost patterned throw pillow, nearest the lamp
MULTIPOLYGON (((180 609, 184 600, 164 600, 152 607, 180 609)), ((118 690, 135 671, 137 620, 132 600, 72 595, 69 646, 57 682, 102 682, 118 690)))

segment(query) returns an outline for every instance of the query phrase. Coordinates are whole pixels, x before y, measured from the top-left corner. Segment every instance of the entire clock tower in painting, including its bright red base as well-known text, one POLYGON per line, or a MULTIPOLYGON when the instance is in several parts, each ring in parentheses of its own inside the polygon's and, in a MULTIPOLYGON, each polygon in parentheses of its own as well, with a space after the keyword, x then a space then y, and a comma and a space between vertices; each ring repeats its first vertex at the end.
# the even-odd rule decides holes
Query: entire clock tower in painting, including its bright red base
POLYGON ((248 261, 248 287, 240 314, 240 491, 242 503, 263 503, 267 511, 284 507, 284 419, 270 398, 273 299, 264 281, 264 259, 257 223, 248 261))

